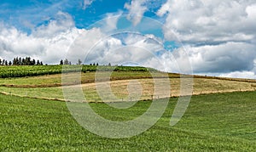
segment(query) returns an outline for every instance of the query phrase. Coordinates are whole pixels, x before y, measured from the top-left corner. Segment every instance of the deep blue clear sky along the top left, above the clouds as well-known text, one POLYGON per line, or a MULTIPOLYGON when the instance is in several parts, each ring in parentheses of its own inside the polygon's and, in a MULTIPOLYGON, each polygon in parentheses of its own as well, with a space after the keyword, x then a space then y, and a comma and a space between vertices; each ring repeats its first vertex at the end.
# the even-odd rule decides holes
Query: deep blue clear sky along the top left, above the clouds
MULTIPOLYGON (((59 11, 66 12, 73 17, 78 28, 87 28, 98 20, 102 20, 109 13, 128 14, 124 8, 125 3, 131 0, 97 0, 85 6, 81 0, 59 1, 59 0, 3 0, 0 2, 0 18, 8 25, 15 25, 20 30, 30 32, 32 28, 39 25, 47 25, 49 20, 54 20, 59 11)), ((160 1, 159 1, 160 2, 160 1)), ((162 1, 163 3, 165 1, 162 1)), ((148 11, 145 16, 154 17, 155 11, 160 8, 161 3, 148 3, 148 11)))

